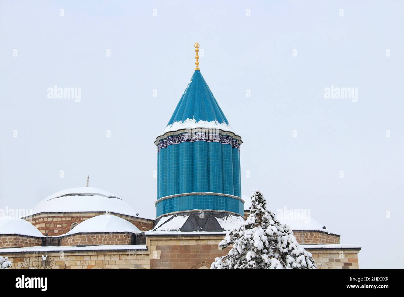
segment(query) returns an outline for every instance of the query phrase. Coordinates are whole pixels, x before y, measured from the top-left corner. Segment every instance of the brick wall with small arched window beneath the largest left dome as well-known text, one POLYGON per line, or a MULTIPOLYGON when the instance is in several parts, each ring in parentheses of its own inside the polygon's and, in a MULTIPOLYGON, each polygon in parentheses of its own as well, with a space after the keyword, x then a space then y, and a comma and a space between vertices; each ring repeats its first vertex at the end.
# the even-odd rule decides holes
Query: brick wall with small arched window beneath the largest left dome
MULTIPOLYGON (((65 234, 70 231, 70 227, 73 223, 81 223, 97 215, 104 215, 105 213, 41 213, 33 215, 32 217, 26 217, 25 219, 32 223, 42 234, 48 234, 48 236, 57 236, 65 234)), ((144 219, 141 217, 132 217, 128 215, 120 215, 112 213, 122 219, 130 221, 141 231, 147 231, 153 229, 154 220, 144 219)))

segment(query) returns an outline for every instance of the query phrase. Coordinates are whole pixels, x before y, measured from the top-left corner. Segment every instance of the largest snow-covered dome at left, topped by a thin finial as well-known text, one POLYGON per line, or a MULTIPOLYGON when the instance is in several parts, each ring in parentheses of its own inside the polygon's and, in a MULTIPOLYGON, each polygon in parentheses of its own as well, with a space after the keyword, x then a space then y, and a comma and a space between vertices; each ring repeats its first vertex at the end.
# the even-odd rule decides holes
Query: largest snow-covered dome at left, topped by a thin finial
POLYGON ((40 201, 32 214, 109 211, 135 217, 136 211, 121 198, 95 187, 61 190, 40 201))

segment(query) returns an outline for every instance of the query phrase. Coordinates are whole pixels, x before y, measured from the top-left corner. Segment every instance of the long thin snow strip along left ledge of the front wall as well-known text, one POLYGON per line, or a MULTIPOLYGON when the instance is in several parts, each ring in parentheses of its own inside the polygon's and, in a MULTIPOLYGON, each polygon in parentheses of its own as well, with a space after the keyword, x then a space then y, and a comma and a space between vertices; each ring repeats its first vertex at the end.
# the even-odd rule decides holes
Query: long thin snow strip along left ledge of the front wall
POLYGON ((108 244, 108 245, 96 245, 96 246, 29 246, 23 248, 6 248, 0 249, 2 253, 31 253, 31 252, 59 252, 59 251, 115 251, 115 250, 147 250, 145 244, 108 244))

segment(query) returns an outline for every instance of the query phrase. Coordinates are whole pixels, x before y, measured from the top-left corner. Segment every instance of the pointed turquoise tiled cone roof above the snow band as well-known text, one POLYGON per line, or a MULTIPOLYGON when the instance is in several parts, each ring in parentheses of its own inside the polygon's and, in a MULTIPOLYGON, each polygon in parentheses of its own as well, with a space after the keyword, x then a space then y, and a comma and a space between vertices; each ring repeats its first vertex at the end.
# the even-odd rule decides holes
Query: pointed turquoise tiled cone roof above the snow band
POLYGON ((188 119, 229 124, 200 70, 195 70, 167 126, 188 119))

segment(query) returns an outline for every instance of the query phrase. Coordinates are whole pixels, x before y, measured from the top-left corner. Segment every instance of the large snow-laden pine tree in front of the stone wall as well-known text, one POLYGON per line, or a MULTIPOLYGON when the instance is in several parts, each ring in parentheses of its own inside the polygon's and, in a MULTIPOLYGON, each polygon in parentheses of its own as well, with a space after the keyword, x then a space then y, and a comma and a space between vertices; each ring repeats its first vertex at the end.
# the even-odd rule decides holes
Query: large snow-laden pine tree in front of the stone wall
POLYGON ((267 210, 259 190, 252 192, 249 209, 245 224, 219 243, 222 249, 231 244, 233 248, 217 257, 210 269, 316 269, 311 253, 299 246, 288 225, 267 210))

